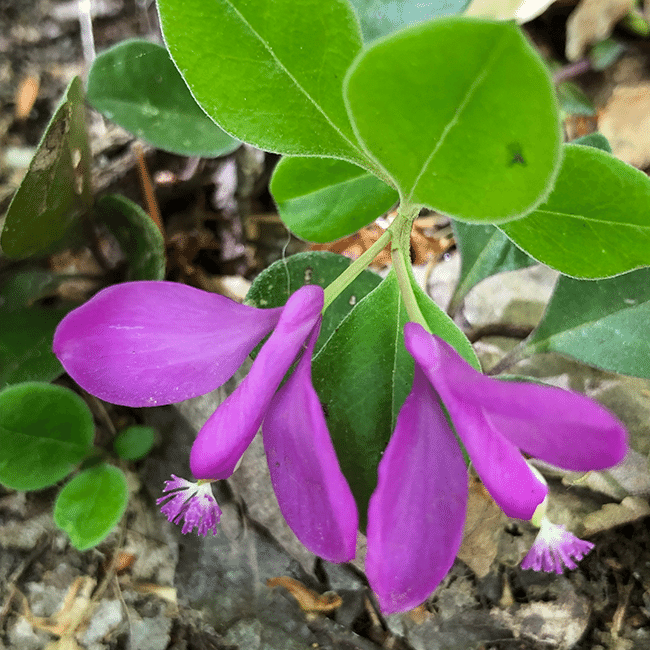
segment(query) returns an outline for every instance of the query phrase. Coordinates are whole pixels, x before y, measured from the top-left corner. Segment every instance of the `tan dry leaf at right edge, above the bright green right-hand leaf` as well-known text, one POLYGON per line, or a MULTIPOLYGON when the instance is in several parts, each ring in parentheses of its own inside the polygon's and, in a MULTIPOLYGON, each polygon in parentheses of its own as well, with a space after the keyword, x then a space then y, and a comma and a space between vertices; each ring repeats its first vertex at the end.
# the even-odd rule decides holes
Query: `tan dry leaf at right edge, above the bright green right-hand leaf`
POLYGON ((650 165, 650 84, 615 88, 598 127, 617 158, 639 168, 650 165))

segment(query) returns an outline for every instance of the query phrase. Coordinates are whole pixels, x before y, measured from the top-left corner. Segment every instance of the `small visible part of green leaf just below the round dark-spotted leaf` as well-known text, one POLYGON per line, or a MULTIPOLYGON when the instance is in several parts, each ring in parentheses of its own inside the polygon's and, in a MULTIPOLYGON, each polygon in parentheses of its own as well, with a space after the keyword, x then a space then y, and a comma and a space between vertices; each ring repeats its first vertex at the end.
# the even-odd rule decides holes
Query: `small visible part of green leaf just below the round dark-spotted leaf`
POLYGON ((454 238, 460 251, 460 278, 449 303, 454 313, 469 290, 481 280, 504 271, 536 264, 494 226, 453 222, 454 238))

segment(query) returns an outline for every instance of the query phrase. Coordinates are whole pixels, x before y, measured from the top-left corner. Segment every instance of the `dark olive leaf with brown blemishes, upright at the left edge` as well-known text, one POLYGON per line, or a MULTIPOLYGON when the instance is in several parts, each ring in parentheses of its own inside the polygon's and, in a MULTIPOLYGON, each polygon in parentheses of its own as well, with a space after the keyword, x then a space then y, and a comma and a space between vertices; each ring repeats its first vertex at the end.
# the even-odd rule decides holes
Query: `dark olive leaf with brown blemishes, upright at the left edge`
POLYGON ((0 237, 3 252, 25 258, 79 241, 79 216, 92 202, 83 90, 75 77, 9 205, 0 237))

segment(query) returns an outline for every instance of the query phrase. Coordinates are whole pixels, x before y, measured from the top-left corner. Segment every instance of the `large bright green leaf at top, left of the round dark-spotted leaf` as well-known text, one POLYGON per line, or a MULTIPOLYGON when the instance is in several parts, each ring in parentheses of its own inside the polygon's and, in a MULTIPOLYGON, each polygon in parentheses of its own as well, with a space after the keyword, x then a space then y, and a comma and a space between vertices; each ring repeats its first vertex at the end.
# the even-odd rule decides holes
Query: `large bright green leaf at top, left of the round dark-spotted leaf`
POLYGON ((268 151, 366 161, 342 96, 361 50, 346 0, 159 0, 158 10, 178 69, 225 131, 268 151))

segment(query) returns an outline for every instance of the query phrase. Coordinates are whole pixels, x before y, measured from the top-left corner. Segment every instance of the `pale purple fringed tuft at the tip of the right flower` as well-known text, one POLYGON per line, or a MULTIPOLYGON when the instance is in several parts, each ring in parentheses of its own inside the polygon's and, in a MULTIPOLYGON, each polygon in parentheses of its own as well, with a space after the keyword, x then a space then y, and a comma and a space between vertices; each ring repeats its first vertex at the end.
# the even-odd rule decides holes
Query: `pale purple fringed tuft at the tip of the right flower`
POLYGON ((544 517, 528 555, 521 562, 521 568, 562 573, 565 568, 577 568, 574 560, 581 560, 593 547, 591 542, 578 539, 564 526, 553 524, 544 517))

